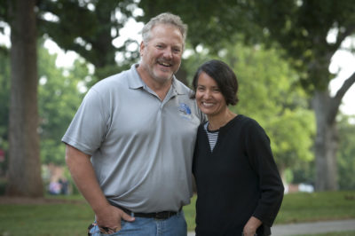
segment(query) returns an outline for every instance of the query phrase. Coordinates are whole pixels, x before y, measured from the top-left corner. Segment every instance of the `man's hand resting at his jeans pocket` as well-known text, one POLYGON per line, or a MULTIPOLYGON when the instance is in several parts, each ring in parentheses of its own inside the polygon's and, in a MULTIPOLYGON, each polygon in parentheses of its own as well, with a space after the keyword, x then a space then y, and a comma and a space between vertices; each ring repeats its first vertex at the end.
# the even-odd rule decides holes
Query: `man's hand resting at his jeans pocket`
POLYGON ((96 221, 103 233, 111 234, 121 230, 121 220, 132 222, 134 217, 128 215, 122 209, 107 205, 96 214, 96 221))

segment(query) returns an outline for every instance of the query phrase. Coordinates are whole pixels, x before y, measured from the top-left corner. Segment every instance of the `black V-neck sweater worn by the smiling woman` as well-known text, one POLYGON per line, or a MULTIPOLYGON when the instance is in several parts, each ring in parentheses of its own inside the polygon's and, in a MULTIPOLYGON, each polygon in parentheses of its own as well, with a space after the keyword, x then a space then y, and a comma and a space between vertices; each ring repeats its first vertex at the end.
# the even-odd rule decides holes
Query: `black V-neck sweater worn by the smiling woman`
POLYGON ((250 216, 263 222, 257 235, 269 235, 284 187, 270 140, 253 119, 237 115, 219 129, 210 151, 203 124, 193 157, 196 180, 196 235, 241 235, 250 216))

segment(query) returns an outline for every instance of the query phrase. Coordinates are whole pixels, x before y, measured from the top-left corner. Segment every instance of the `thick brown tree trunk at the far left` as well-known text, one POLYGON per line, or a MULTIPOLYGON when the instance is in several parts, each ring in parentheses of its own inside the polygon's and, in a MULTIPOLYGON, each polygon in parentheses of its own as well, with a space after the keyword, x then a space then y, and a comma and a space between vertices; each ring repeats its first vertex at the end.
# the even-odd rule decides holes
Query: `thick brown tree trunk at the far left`
POLYGON ((6 194, 42 197, 37 107, 36 0, 12 0, 9 171, 6 194))

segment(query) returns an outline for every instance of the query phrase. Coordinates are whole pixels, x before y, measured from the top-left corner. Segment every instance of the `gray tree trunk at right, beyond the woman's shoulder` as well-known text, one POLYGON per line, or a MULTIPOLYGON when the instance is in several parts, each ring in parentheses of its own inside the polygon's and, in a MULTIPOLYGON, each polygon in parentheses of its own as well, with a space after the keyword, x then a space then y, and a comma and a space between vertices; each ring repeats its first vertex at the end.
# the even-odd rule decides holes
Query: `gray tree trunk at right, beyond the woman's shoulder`
POLYGON ((316 91, 312 102, 317 122, 315 189, 316 191, 337 190, 336 151, 338 135, 335 115, 329 112, 332 110, 332 99, 327 91, 316 91))

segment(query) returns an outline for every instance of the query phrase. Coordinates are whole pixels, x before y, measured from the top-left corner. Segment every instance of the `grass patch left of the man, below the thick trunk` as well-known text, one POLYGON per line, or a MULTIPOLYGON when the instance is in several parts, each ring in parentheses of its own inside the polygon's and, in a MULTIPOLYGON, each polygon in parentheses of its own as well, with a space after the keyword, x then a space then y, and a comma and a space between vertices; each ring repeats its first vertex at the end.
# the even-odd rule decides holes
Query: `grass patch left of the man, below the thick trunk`
POLYGON ((85 235, 92 216, 91 208, 84 201, 0 205, 0 235, 85 235))

